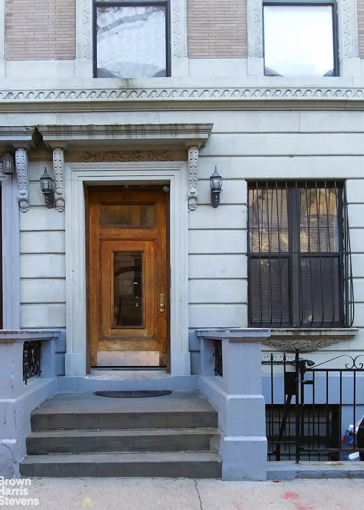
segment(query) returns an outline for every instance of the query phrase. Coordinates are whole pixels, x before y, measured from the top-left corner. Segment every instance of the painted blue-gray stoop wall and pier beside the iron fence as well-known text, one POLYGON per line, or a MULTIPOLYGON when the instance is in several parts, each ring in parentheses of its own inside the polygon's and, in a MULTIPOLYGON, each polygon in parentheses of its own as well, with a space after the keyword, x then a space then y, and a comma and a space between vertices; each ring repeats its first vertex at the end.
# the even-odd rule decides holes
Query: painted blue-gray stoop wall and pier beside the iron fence
POLYGON ((200 391, 217 409, 223 480, 266 480, 265 400, 261 342, 267 328, 197 330, 201 339, 200 391), (221 340, 223 377, 214 374, 214 341, 221 340))

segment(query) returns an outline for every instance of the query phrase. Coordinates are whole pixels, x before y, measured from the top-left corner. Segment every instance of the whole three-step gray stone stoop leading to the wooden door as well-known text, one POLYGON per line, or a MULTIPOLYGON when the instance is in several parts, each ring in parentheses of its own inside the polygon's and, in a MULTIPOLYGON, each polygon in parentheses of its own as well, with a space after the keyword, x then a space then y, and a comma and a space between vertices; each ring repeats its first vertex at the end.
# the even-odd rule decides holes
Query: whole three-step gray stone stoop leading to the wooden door
POLYGON ((23 477, 221 478, 217 413, 197 391, 58 394, 35 409, 23 477))

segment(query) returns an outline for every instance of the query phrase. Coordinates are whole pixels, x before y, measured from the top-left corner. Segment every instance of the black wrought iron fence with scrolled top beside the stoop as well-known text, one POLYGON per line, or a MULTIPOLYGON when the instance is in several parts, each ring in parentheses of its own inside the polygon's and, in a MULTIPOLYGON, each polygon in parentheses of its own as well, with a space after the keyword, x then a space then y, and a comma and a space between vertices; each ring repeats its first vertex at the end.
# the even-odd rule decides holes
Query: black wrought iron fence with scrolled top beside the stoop
POLYGON ((296 350, 261 362, 268 460, 364 460, 364 355, 315 364, 296 350))

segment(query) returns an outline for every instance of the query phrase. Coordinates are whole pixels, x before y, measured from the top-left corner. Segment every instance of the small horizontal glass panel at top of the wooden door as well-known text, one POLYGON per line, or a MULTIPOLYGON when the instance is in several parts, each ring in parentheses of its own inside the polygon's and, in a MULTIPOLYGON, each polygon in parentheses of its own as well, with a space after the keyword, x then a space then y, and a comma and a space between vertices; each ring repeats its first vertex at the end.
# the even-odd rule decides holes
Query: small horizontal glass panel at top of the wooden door
POLYGON ((154 227, 154 205, 103 205, 101 226, 154 227))

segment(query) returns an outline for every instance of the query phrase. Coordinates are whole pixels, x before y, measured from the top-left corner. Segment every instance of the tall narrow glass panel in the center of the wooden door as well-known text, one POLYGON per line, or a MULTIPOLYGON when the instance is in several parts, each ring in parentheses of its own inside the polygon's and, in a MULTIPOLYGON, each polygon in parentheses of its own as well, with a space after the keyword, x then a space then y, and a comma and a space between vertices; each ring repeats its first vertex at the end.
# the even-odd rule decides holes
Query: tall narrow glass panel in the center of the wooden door
POLYGON ((113 327, 144 327, 143 253, 114 251, 113 327))

